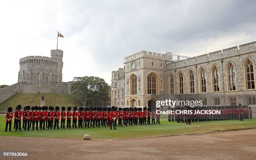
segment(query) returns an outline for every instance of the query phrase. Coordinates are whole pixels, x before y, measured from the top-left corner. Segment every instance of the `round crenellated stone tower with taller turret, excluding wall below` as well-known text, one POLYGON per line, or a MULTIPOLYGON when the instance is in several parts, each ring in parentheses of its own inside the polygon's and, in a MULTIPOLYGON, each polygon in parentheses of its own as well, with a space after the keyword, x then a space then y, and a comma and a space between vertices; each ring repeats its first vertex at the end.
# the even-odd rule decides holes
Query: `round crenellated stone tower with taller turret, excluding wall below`
POLYGON ((62 82, 62 57, 62 50, 51 50, 51 57, 21 58, 18 82, 62 82))

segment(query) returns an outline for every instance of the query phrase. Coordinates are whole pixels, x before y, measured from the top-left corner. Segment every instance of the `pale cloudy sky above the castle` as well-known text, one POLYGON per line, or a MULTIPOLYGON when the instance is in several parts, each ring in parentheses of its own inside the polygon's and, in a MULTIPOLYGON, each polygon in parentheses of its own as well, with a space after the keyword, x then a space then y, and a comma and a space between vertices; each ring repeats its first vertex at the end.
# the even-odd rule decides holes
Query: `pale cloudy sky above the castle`
POLYGON ((19 59, 64 51, 63 81, 102 77, 141 50, 195 56, 256 41, 255 0, 31 0, 0 2, 0 85, 19 59))

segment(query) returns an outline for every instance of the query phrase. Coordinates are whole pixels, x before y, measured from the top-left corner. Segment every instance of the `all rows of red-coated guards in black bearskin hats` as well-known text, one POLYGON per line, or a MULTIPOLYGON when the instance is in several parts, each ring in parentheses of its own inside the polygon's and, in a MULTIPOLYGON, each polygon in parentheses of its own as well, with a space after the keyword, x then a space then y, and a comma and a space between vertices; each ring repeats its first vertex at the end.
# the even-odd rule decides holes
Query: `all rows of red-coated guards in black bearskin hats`
MULTIPOLYGON (((24 130, 45 130, 49 129, 59 129, 59 120, 61 120, 61 129, 71 129, 72 128, 100 128, 100 127, 110 127, 110 130, 116 129, 116 126, 135 126, 135 125, 155 125, 160 124, 160 114, 156 111, 151 111, 147 107, 67 107, 67 112, 65 107, 61 107, 61 112, 59 107, 24 107, 21 111, 21 106, 16 107, 16 111, 13 112, 13 108, 9 107, 8 112, 5 116, 6 126, 5 132, 11 131, 12 119, 14 118, 14 129, 15 131, 21 131, 21 120, 22 128, 24 130), (156 119, 156 122, 155 122, 156 119), (67 124, 65 125, 67 120, 67 124)), ((174 107, 169 108, 172 110, 171 114, 168 115, 169 122, 186 122, 190 125, 190 122, 202 122, 202 121, 212 121, 212 120, 243 120, 252 118, 251 107, 248 106, 209 106, 209 107, 174 107), (220 110, 221 114, 176 114, 176 110, 220 110), (172 114, 173 113, 173 114, 172 114)), ((193 112, 194 112, 193 111, 193 112)), ((199 112, 195 112, 199 113, 199 112)))

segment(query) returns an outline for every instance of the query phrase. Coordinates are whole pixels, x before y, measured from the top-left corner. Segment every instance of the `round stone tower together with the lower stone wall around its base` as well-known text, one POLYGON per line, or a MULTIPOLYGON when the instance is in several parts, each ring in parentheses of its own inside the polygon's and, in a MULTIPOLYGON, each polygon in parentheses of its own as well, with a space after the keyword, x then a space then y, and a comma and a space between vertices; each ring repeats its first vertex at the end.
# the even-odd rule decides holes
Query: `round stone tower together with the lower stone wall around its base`
POLYGON ((62 50, 51 50, 51 57, 21 58, 18 82, 0 90, 0 103, 17 92, 71 94, 72 82, 62 82, 62 57, 62 50))

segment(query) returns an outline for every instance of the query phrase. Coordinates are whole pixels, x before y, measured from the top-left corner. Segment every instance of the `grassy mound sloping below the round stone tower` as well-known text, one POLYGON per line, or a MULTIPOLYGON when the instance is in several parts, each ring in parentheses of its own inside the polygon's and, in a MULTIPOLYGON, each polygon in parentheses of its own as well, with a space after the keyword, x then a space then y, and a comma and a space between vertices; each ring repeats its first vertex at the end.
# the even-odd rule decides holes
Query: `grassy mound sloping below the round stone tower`
POLYGON ((46 106, 81 106, 82 103, 68 94, 60 93, 17 93, 0 104, 0 110, 7 110, 8 107, 15 107, 20 104, 22 109, 26 105, 40 106, 41 97, 44 94, 46 106))

